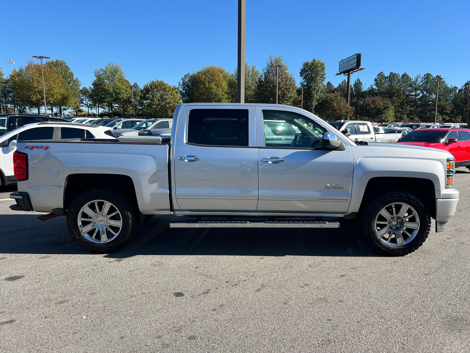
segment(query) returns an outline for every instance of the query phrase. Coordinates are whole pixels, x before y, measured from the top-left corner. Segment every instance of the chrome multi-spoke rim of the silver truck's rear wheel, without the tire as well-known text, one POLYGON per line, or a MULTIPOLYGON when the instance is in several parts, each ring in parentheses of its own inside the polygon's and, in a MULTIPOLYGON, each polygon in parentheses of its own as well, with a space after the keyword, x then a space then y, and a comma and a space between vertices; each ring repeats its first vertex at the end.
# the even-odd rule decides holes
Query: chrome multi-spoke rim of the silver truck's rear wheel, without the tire
POLYGON ((78 229, 89 241, 95 243, 112 241, 118 236, 121 228, 121 213, 109 201, 88 202, 78 212, 78 229))

